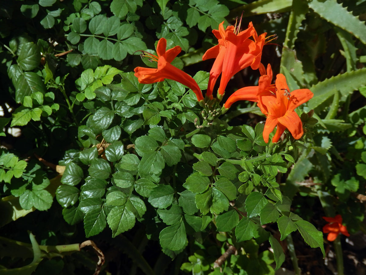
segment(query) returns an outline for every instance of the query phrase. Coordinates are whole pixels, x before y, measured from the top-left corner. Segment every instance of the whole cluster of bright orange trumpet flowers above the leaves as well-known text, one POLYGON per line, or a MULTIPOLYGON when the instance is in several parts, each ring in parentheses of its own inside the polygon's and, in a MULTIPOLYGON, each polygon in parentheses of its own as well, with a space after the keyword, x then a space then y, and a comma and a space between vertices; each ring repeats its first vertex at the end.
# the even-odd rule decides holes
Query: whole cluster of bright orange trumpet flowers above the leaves
MULTIPOLYGON (((213 99, 213 88, 217 78, 221 74, 220 86, 216 98, 221 100, 225 94, 226 86, 234 74, 240 70, 251 67, 259 69, 261 77, 258 86, 244 87, 235 91, 224 103, 224 111, 238 100, 250 100, 257 102, 258 107, 266 115, 263 138, 266 143, 269 140, 269 133, 277 125, 277 131, 272 142, 278 142, 281 135, 287 128, 295 139, 303 135, 302 122, 294 109, 313 97, 309 89, 298 89, 290 92, 283 74, 277 74, 275 84, 272 82, 272 69, 268 64, 267 69, 261 63, 262 49, 266 44, 266 33, 258 36, 253 24, 250 22, 246 30, 239 31, 238 27, 228 26, 224 29, 222 22, 219 30, 213 30, 218 39, 218 44, 206 51, 202 60, 215 58, 210 77, 206 98, 213 99), (251 39, 250 39, 251 38, 251 39)), ((140 83, 150 84, 171 79, 186 85, 197 96, 200 102, 203 99, 202 91, 195 80, 182 70, 171 65, 173 59, 182 50, 179 46, 166 50, 167 41, 160 38, 156 47, 157 56, 146 53, 157 62, 157 69, 136 67, 135 76, 140 83)))

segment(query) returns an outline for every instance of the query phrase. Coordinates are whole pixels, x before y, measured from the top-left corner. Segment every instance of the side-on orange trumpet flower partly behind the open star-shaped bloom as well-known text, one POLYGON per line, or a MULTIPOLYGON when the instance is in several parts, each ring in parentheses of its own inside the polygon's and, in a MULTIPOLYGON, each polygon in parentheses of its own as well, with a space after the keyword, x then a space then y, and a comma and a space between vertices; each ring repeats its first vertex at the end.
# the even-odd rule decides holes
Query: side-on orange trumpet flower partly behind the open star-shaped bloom
POLYGON ((224 107, 229 109, 231 105, 238 100, 249 100, 253 102, 257 102, 258 107, 261 109, 262 113, 265 115, 268 114, 267 107, 262 104, 262 96, 274 96, 276 88, 272 82, 272 69, 271 65, 268 64, 267 71, 264 66, 261 64, 259 66, 261 77, 259 77, 258 86, 250 86, 244 87, 237 91, 235 91, 229 98, 226 100, 224 107))

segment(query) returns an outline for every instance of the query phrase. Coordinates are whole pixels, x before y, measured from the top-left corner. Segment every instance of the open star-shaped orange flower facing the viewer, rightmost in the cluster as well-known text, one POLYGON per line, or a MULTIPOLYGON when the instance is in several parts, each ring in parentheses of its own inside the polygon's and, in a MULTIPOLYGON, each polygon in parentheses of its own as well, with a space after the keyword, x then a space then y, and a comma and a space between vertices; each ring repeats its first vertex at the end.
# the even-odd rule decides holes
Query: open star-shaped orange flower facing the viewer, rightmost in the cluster
POLYGON ((262 96, 261 102, 268 110, 266 124, 263 130, 263 139, 266 143, 269 140, 269 133, 275 129, 277 131, 273 136, 272 142, 279 141, 281 135, 287 128, 294 139, 300 139, 304 133, 302 122, 294 111, 296 107, 307 102, 313 97, 309 89, 298 89, 290 93, 286 78, 283 74, 277 74, 276 96, 262 96))

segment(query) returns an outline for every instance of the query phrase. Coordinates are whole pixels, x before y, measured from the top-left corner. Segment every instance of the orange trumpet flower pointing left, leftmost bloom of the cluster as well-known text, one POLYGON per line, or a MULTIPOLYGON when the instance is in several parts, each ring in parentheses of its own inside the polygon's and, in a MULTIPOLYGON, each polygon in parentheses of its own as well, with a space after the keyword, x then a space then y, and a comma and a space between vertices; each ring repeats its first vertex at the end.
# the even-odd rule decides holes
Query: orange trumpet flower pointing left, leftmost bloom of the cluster
POLYGON ((203 100, 201 89, 198 87, 196 81, 187 73, 184 73, 182 70, 170 64, 180 51, 182 51, 182 48, 175 46, 167 51, 166 48, 167 40, 165 38, 160 38, 156 46, 156 53, 158 56, 145 53, 158 63, 158 67, 157 69, 136 67, 134 70, 135 77, 138 78, 139 83, 151 84, 163 81, 165 78, 175 80, 192 89, 196 94, 198 101, 203 100))

